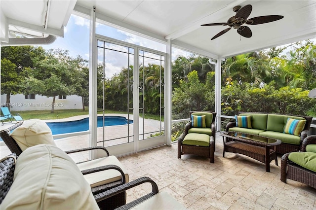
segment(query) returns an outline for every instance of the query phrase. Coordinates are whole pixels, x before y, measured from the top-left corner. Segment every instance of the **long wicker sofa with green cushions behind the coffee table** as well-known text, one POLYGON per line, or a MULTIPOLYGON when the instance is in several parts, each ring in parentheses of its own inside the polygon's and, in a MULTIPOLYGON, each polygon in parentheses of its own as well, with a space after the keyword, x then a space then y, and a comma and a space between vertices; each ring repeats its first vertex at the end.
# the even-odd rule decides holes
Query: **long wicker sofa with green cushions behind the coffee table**
POLYGON ((312 117, 289 114, 263 113, 263 112, 239 112, 238 116, 251 116, 251 128, 237 127, 236 122, 229 122, 226 131, 236 131, 247 134, 259 135, 282 141, 277 146, 277 153, 299 151, 302 141, 307 137, 312 117), (283 133, 288 118, 306 120, 305 126, 299 135, 283 133))

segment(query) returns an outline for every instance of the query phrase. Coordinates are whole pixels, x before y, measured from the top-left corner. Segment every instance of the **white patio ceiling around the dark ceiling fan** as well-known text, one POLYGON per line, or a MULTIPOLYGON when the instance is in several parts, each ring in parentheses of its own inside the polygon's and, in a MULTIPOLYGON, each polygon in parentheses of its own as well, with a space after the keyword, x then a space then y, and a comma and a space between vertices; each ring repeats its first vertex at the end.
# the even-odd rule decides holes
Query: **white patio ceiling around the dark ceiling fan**
POLYGON ((160 41, 171 39, 180 48, 213 58, 316 37, 316 0, 1 0, 0 7, 8 20, 16 19, 42 27, 43 8, 47 3, 51 4, 48 30, 43 30, 47 34, 60 35, 53 32, 63 30, 70 12, 89 15, 95 6, 97 18, 106 23, 160 41), (264 15, 283 15, 284 18, 271 23, 249 25, 251 38, 240 37, 236 29, 231 29, 210 40, 228 27, 200 26, 227 22, 236 14, 232 9, 234 6, 246 4, 252 5, 248 19, 264 15))

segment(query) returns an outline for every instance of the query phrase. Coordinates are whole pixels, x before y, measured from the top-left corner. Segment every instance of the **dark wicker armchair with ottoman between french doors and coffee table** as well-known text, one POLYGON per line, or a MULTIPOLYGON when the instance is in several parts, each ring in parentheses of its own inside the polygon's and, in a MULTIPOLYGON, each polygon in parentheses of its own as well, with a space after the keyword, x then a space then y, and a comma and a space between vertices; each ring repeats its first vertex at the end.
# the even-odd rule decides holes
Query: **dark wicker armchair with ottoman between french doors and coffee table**
MULTIPOLYGON (((190 129, 192 127, 192 121, 186 124, 185 132, 178 138, 178 158, 181 159, 181 155, 183 154, 195 154, 204 157, 208 157, 211 163, 214 163, 214 151, 215 151, 215 117, 216 112, 213 111, 191 111, 190 118, 192 114, 202 115, 203 113, 211 113, 212 119, 209 120, 210 122, 206 122, 206 129, 211 130, 211 136, 209 136, 209 146, 198 146, 198 145, 188 145, 184 144, 183 140, 185 140, 188 134, 192 134, 193 132, 190 129)), ((206 119, 207 120, 207 119, 206 119)), ((203 128, 198 128, 203 129, 203 128)), ((201 132, 199 134, 205 134, 201 132)))

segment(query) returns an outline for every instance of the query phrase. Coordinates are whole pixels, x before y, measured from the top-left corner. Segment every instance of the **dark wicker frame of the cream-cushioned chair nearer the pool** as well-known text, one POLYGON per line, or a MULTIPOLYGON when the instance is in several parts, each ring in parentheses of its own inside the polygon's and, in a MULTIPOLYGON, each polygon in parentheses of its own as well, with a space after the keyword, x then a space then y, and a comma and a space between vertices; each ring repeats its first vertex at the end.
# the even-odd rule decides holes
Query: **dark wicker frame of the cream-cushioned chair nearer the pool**
MULTIPOLYGON (((21 126, 22 124, 23 124, 23 122, 18 122, 15 125, 9 127, 8 129, 2 130, 0 132, 1 139, 4 141, 4 143, 10 149, 10 151, 15 153, 17 156, 19 156, 22 153, 22 150, 19 147, 19 145, 17 144, 17 142, 10 136, 10 131, 21 126)), ((109 154, 109 151, 105 147, 102 147, 102 146, 80 148, 80 149, 75 149, 75 150, 70 150, 70 151, 65 151, 65 152, 67 154, 71 154, 71 153, 90 151, 90 150, 98 150, 98 149, 103 150, 106 153, 107 157, 111 157, 109 154)), ((103 158, 105 159, 107 157, 103 157, 103 158)), ((85 162, 89 162, 89 161, 92 164, 94 160, 88 160, 85 162)), ((107 165, 97 167, 97 168, 91 167, 88 169, 81 170, 81 173, 83 175, 89 175, 92 173, 102 172, 105 170, 116 170, 120 173, 119 180, 116 180, 116 181, 113 181, 110 183, 105 183, 105 184, 93 184, 93 187, 91 187, 91 191, 92 191, 93 195, 98 194, 98 193, 103 192, 103 191, 106 191, 106 190, 109 190, 109 189, 112 189, 112 188, 115 188, 121 184, 128 182, 128 180, 126 180, 126 177, 125 177, 123 170, 120 167, 118 167, 117 165, 113 165, 113 164, 117 164, 118 161, 116 161, 114 163, 111 163, 111 161, 108 161, 108 162, 110 162, 110 163, 108 163, 107 165), (94 186, 94 185, 96 185, 96 186, 94 186)), ((80 164, 82 164, 82 163, 84 163, 84 162, 77 163, 79 168, 80 168, 80 164)), ((100 163, 102 163, 102 162, 100 162, 100 163)), ((106 203, 107 203, 107 206, 106 206, 107 208, 102 208, 102 209, 110 209, 111 210, 111 209, 114 209, 114 207, 116 208, 116 207, 122 206, 122 205, 126 204, 126 193, 122 192, 114 197, 111 197, 106 201, 106 203)))

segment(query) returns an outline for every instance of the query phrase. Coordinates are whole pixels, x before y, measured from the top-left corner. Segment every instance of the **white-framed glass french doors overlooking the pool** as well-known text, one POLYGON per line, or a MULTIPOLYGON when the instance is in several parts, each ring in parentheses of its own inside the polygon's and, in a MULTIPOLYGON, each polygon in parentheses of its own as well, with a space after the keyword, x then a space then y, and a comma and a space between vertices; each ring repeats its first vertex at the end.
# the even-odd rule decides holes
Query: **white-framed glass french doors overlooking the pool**
POLYGON ((114 155, 165 144, 165 54, 103 36, 96 40, 97 144, 114 155))

